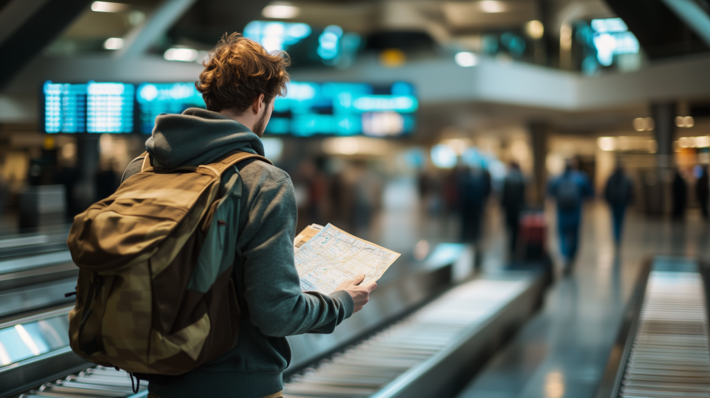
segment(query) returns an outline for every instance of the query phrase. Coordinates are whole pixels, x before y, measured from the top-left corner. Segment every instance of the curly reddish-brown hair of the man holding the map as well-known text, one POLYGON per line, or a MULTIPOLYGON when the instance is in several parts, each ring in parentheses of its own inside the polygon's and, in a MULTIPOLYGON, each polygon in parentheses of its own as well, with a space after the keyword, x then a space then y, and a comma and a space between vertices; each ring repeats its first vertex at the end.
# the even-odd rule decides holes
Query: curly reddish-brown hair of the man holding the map
POLYGON ((261 44, 240 33, 226 33, 202 63, 204 70, 195 83, 209 111, 246 111, 260 94, 270 104, 286 91, 290 65, 284 51, 269 53, 261 44))

